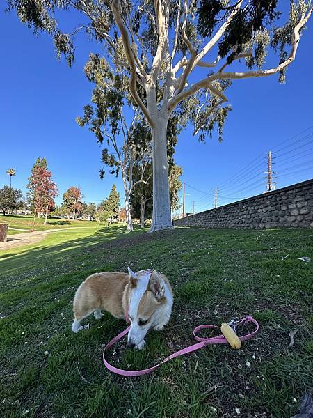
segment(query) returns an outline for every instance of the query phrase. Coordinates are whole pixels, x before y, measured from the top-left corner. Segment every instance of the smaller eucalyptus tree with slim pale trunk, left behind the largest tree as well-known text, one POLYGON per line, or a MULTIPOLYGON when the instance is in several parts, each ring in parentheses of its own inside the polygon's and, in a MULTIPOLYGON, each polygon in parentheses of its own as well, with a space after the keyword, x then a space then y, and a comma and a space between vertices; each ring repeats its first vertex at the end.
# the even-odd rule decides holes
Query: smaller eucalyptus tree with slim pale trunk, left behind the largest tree
MULTIPOLYGON (((127 231, 133 231, 129 199, 140 183, 147 183, 146 167, 151 158, 151 135, 143 116, 128 88, 125 70, 112 72, 109 63, 98 54, 90 54, 84 68, 86 77, 95 84, 91 101, 83 108, 80 126, 88 125, 100 144, 102 162, 109 173, 122 175, 127 231), (134 175, 134 163, 141 162, 141 170, 134 175)), ((100 170, 103 178, 105 169, 100 170)))

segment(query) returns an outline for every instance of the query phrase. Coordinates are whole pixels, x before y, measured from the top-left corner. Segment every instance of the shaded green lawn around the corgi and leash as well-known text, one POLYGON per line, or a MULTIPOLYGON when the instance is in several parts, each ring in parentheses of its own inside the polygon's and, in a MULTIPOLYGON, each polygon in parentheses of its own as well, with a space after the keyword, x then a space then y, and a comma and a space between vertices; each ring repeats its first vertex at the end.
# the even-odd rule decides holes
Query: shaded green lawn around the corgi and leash
POLYGON ((122 226, 60 231, 0 253, 0 416, 291 417, 313 382, 313 269, 301 256, 313 258, 310 230, 147 235, 122 226), (175 302, 145 350, 123 341, 109 353, 113 364, 150 366, 193 343, 196 325, 232 316, 251 314, 259 333, 241 350, 208 346, 152 375, 113 375, 102 349, 125 323, 90 317, 89 330, 73 334, 72 299, 88 274, 127 265, 164 272, 175 302))

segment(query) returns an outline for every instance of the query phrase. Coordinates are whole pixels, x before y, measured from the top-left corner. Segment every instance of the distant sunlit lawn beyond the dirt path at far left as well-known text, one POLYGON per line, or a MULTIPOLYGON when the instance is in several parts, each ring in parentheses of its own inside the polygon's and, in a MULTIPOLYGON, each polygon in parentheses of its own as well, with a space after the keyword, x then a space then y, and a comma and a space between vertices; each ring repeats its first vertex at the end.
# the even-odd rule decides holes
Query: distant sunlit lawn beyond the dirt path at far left
POLYGON ((34 229, 34 231, 45 231, 47 229, 57 229, 57 228, 69 228, 71 226, 88 226, 90 224, 95 226, 97 222, 90 222, 90 221, 79 221, 72 219, 59 219, 59 218, 48 218, 47 225, 44 225, 45 219, 43 218, 35 218, 35 224, 33 224, 33 216, 25 216, 25 215, 0 215, 0 224, 9 224, 8 235, 13 235, 15 233, 23 233, 27 232, 30 229, 34 229), (16 231, 10 228, 18 228, 18 229, 25 229, 26 231, 16 231))

